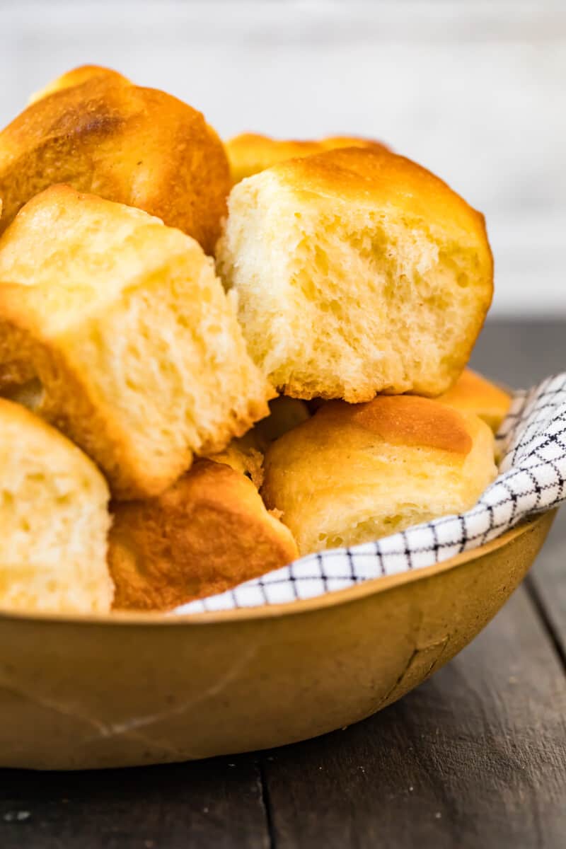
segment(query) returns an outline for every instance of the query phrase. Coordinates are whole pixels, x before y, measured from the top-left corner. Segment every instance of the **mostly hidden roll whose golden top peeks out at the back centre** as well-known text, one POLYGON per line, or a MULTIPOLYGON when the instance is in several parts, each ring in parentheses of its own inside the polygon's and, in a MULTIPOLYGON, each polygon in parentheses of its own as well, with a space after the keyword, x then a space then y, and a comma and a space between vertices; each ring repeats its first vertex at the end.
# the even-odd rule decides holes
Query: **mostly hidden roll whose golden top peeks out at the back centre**
POLYGON ((251 177, 259 171, 276 165, 277 162, 294 159, 300 156, 320 154, 324 150, 335 148, 378 148, 385 145, 370 138, 355 136, 333 136, 308 141, 293 139, 270 138, 255 132, 243 132, 225 142, 232 182, 239 183, 244 177, 251 177))

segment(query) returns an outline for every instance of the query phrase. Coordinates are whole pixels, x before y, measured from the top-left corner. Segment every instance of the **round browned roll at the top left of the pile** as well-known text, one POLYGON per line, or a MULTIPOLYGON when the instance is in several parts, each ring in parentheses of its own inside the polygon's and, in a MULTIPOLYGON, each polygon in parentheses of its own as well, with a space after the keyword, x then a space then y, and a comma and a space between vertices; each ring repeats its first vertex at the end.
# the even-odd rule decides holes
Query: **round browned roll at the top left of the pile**
POLYGON ((159 216, 211 253, 230 171, 203 115, 92 66, 48 89, 0 132, 0 232, 34 194, 69 183, 159 216))

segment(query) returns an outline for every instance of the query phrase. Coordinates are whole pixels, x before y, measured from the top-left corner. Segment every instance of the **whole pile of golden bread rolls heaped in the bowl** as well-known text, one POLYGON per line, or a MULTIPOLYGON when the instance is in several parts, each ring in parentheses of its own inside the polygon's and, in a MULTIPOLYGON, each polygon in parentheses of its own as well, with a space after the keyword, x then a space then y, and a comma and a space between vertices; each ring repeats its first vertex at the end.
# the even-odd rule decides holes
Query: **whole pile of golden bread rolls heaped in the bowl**
POLYGON ((384 144, 222 143, 85 66, 0 132, 0 606, 169 610, 467 509, 483 216, 384 144))

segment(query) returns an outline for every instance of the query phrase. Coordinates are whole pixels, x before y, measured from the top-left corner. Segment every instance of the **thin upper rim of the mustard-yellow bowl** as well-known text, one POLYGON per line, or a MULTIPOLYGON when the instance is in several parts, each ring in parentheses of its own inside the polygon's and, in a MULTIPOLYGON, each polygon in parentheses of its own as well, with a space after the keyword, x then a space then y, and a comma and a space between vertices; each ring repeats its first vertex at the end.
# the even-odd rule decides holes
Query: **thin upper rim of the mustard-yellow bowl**
POLYGON ((171 612, 143 612, 143 611, 111 611, 109 613, 49 613, 36 612, 27 613, 24 610, 0 609, 0 623, 6 621, 20 621, 28 623, 52 623, 72 624, 89 626, 117 626, 117 627, 202 627, 216 624, 239 623, 257 619, 281 619, 286 616, 297 616, 301 613, 323 610, 340 604, 350 604, 367 596, 382 593, 386 590, 412 583, 421 578, 429 578, 440 572, 457 569, 459 566, 468 564, 470 561, 479 559, 485 554, 505 548, 519 537, 533 530, 546 518, 552 519, 557 509, 546 510, 527 520, 520 522, 517 526, 505 531, 501 537, 491 540, 489 543, 473 548, 470 551, 457 554, 454 557, 423 566, 412 571, 399 572, 395 575, 378 576, 369 578, 367 581, 356 584, 353 587, 333 590, 330 593, 314 596, 310 599, 297 599, 283 604, 261 604, 257 607, 241 607, 237 610, 208 610, 204 613, 171 614, 171 612))

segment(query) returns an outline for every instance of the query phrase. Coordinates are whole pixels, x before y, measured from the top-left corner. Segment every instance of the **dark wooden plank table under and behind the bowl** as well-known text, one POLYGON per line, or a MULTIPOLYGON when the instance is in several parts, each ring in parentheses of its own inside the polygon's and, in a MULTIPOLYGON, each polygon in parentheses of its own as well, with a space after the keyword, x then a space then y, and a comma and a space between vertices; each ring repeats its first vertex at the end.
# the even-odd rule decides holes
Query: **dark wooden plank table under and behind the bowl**
MULTIPOLYGON (((494 321, 473 363, 530 385, 566 368, 566 323, 494 321)), ((564 849, 566 509, 484 633, 365 722, 171 767, 0 771, 1 849, 193 846, 564 849)))

